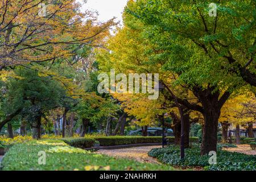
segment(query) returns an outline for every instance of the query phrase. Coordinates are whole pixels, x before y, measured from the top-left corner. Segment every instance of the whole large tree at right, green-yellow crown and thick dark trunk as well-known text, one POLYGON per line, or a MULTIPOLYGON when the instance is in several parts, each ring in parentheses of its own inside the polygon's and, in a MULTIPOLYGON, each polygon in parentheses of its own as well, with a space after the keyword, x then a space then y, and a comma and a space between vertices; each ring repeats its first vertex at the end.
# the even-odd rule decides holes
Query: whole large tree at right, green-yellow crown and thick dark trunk
POLYGON ((217 150, 218 118, 234 88, 255 86, 254 2, 222 2, 216 18, 208 15, 209 3, 141 0, 126 7, 144 23, 144 36, 156 47, 152 60, 164 61, 163 69, 178 76, 176 84, 200 101, 178 98, 204 115, 202 155, 217 150))

